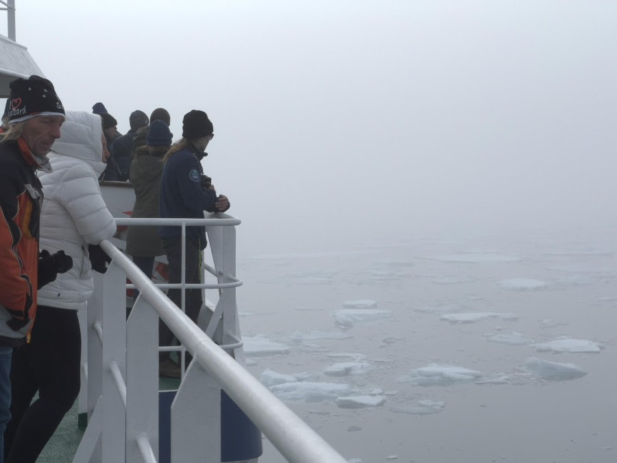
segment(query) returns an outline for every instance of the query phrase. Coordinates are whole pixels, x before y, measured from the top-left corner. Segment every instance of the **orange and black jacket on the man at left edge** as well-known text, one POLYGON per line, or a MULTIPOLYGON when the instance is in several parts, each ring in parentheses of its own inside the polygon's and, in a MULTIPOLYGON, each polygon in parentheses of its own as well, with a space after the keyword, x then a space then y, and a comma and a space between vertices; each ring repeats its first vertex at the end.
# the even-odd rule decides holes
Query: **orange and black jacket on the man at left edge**
POLYGON ((36 312, 43 189, 22 139, 0 138, 0 346, 23 343, 36 312))

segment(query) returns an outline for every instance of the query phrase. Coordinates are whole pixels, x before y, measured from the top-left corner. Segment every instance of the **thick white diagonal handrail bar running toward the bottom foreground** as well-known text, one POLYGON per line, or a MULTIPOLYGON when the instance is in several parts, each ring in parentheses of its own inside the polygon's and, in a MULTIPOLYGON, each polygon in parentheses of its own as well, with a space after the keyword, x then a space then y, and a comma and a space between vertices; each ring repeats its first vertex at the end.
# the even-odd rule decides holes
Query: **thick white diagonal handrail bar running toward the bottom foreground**
MULTIPOLYGON (((202 219, 197 219, 200 222, 202 219)), ((294 414, 270 390, 254 378, 210 339, 191 319, 178 310, 165 294, 109 240, 101 248, 114 265, 125 272, 173 331, 193 361, 214 377, 221 388, 257 425, 280 453, 292 463, 346 463, 328 442, 294 414)))

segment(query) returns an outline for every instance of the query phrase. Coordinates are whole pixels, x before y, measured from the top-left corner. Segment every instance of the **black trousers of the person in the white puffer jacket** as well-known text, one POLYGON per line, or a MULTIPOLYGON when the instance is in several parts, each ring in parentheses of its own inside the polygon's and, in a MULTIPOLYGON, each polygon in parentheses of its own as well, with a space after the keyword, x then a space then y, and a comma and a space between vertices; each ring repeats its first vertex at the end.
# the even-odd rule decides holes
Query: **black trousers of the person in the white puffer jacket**
POLYGON ((37 307, 30 342, 13 351, 5 463, 36 462, 80 392, 81 348, 76 310, 37 307))

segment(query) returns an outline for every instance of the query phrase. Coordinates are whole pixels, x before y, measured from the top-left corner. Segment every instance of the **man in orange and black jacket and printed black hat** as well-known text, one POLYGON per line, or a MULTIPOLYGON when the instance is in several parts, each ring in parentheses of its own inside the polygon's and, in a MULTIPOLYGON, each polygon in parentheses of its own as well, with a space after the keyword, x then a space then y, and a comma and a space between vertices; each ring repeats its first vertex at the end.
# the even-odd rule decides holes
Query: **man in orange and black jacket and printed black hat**
POLYGON ((64 251, 39 252, 43 187, 36 170, 51 170, 47 153, 63 122, 64 107, 49 80, 31 75, 10 82, 0 130, 0 457, 10 420, 13 348, 32 329, 38 289, 73 265, 64 251))

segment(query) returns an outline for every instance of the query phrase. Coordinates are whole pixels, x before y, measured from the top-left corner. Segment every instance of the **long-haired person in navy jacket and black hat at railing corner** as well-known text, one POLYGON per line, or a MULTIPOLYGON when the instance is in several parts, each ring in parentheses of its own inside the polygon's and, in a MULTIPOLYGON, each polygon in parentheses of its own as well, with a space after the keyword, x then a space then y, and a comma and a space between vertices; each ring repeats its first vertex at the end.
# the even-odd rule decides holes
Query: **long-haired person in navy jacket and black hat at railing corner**
MULTIPOLYGON (((163 157, 160 180, 160 217, 185 217, 203 219, 204 211, 224 212, 230 207, 225 195, 218 195, 214 185, 204 176, 202 158, 207 155, 206 146, 214 137, 214 127, 204 111, 192 110, 182 119, 182 139, 171 146, 163 157)), ((169 261, 169 283, 181 283, 182 229, 180 226, 161 226, 159 235, 169 261)), ((202 250, 206 248, 206 230, 203 226, 186 227, 185 282, 200 282, 202 250)), ((186 289, 184 298, 186 315, 197 323, 202 308, 201 289, 186 289)), ((178 307, 181 305, 180 289, 170 289, 169 298, 178 307)), ((159 324, 159 345, 169 346, 173 334, 162 321, 159 324)), ((180 367, 161 353, 159 374, 179 377, 180 367)))

